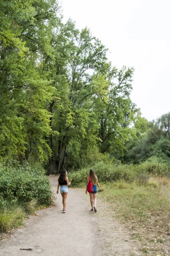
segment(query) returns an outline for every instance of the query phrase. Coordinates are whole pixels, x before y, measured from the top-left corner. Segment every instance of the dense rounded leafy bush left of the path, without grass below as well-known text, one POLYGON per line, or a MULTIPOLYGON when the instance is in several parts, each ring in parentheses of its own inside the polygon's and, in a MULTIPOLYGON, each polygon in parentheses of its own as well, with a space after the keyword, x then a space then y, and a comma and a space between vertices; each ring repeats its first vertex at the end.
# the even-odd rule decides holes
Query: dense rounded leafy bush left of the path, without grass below
POLYGON ((51 186, 42 168, 0 166, 0 200, 25 203, 36 199, 38 204, 51 204, 51 186))

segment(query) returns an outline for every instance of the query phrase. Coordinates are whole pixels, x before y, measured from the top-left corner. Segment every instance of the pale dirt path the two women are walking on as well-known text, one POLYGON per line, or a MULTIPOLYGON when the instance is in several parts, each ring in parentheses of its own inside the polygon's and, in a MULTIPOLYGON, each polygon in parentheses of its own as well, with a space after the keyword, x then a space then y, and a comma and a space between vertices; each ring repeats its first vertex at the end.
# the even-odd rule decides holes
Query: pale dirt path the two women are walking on
MULTIPOLYGON (((57 177, 50 177, 56 193, 57 177)), ((91 212, 89 195, 84 189, 68 191, 66 213, 62 213, 59 193, 57 207, 40 210, 26 226, 0 242, 0 256, 137 256, 138 245, 130 232, 113 219, 109 207, 97 201, 97 212, 91 212), (20 250, 33 247, 32 251, 20 250)))

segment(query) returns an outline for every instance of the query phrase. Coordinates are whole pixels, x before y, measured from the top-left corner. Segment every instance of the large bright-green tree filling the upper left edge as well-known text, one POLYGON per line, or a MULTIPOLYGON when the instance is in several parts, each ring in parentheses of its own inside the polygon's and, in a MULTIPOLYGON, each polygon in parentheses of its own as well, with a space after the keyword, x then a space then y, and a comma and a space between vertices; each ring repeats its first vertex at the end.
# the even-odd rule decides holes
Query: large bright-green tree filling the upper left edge
POLYGON ((53 87, 38 64, 50 52, 48 34, 56 20, 55 1, 1 1, 0 145, 1 160, 34 155, 44 160, 48 146, 53 87))

